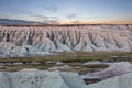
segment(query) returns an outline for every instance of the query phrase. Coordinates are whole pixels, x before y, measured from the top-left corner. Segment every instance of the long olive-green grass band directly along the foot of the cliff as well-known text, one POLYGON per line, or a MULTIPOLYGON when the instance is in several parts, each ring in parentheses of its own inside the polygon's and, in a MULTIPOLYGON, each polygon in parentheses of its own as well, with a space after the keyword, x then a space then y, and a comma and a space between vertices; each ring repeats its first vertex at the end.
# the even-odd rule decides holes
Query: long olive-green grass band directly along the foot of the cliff
POLYGON ((51 62, 86 62, 86 61, 123 61, 132 58, 132 53, 122 52, 62 52, 55 55, 47 56, 31 56, 31 57, 7 57, 0 58, 0 63, 32 63, 40 62, 44 64, 51 62))

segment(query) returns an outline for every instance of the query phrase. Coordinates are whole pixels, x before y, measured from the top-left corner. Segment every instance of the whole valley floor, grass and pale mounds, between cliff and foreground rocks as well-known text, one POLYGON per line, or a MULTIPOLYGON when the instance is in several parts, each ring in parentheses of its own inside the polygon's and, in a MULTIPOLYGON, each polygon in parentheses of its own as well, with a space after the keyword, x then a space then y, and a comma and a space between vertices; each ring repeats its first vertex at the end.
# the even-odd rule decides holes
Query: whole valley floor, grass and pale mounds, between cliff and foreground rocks
POLYGON ((0 70, 35 68, 73 72, 78 73, 86 84, 94 84, 132 72, 131 58, 130 52, 62 52, 45 56, 0 58, 0 70))

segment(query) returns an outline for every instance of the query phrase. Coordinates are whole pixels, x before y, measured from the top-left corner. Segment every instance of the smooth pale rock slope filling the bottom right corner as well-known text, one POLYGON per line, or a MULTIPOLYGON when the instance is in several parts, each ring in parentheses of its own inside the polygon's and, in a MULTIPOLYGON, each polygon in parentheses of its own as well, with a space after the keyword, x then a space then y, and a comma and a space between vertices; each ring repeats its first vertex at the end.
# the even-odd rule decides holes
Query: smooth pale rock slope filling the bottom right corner
POLYGON ((132 73, 84 86, 82 88, 132 88, 132 73))

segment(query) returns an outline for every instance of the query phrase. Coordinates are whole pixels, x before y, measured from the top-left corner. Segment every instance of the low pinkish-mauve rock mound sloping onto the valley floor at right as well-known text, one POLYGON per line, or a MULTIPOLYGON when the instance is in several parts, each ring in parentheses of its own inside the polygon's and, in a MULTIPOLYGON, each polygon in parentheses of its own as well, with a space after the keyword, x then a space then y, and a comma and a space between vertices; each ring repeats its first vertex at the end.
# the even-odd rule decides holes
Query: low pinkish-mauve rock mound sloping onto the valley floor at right
POLYGON ((132 73, 132 64, 128 62, 112 63, 105 70, 96 72, 90 74, 94 78, 110 78, 114 76, 121 76, 123 74, 132 73))

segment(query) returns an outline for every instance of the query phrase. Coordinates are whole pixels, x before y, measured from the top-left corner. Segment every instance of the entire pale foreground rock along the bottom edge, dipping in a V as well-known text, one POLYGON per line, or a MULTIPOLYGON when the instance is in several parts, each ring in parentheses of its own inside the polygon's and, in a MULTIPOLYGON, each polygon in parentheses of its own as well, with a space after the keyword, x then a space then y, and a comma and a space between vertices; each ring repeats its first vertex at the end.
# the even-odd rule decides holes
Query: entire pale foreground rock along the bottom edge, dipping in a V
POLYGON ((22 69, 0 72, 0 88, 132 88, 132 73, 86 85, 77 73, 22 69))

